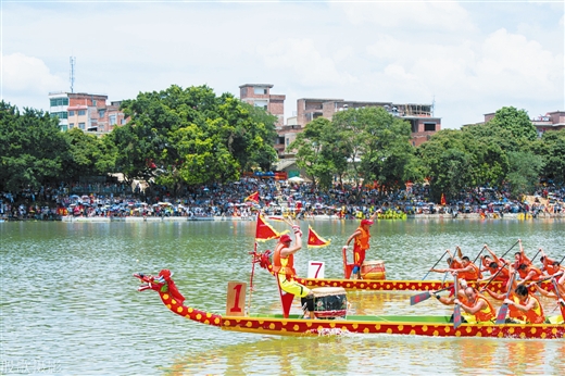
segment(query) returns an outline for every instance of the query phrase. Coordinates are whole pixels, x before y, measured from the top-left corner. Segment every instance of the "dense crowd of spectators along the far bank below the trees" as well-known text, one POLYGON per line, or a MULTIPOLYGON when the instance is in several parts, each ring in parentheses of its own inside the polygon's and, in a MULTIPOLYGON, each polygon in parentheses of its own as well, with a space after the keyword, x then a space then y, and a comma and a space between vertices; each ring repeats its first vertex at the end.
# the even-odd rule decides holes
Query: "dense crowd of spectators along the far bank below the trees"
POLYGON ((478 187, 460 193, 444 204, 431 202, 429 187, 412 185, 405 190, 384 195, 372 187, 355 189, 335 186, 322 191, 310 183, 246 177, 225 185, 203 186, 172 195, 164 187, 126 183, 95 183, 42 187, 17 195, 0 192, 0 220, 61 220, 62 216, 241 216, 251 217, 256 209, 269 215, 290 213, 296 217, 334 215, 361 218, 374 211, 406 214, 564 212, 565 187, 539 186, 532 199, 511 200, 504 190, 478 187), (246 200, 259 192, 260 201, 246 200), (531 201, 531 202, 530 202, 531 201))

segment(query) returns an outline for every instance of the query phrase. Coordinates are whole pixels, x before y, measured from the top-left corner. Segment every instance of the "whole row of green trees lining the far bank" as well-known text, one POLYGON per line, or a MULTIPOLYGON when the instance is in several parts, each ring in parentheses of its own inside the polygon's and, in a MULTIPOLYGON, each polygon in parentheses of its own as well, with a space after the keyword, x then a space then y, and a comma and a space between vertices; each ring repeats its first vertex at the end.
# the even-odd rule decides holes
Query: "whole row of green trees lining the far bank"
MULTIPOLYGON (((0 191, 122 173, 175 195, 277 162, 276 117, 231 93, 171 86, 124 101, 122 111, 130 121, 97 137, 61 131, 47 112, 0 102, 0 191)), ((513 106, 486 124, 440 130, 419 147, 410 138, 410 124, 385 109, 350 109, 309 123, 287 150, 322 190, 348 183, 386 195, 427 181, 431 200, 443 193, 449 201, 479 186, 516 198, 542 178, 565 183, 565 129, 539 138, 527 112, 513 106)))

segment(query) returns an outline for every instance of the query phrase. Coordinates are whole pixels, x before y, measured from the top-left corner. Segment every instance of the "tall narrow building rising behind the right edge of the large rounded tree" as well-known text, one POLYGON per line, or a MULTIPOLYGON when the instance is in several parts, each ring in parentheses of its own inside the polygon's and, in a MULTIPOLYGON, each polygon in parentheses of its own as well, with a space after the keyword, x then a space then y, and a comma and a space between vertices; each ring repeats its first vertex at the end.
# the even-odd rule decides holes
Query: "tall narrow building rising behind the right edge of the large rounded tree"
POLYGON ((285 99, 282 95, 272 95, 271 84, 244 84, 239 87, 239 99, 277 116, 277 130, 285 124, 285 99))

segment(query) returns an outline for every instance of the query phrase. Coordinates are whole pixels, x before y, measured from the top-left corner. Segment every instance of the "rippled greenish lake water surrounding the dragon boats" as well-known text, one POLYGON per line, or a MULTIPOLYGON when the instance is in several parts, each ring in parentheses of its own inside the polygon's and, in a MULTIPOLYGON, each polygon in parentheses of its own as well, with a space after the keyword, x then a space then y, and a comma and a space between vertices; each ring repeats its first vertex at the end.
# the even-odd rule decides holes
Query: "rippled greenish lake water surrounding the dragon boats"
MULTIPOLYGON (((304 233, 309 224, 331 245, 299 251, 299 275, 316 260, 325 262, 326 277, 341 277, 341 247, 356 222, 303 222, 304 233)), ((170 268, 186 304, 225 313, 227 281, 250 279, 254 229, 254 222, 0 223, 0 374, 565 373, 565 340, 238 334, 174 315, 155 292, 137 291, 133 273, 170 268)), ((563 220, 379 221, 372 235, 367 260, 384 260, 388 279, 422 279, 457 245, 473 259, 484 243, 500 255, 518 238, 530 256, 540 247, 555 258, 565 254, 563 220)), ((260 243, 259 250, 273 247, 274 241, 260 243)), ((279 311, 275 279, 255 268, 253 284, 249 310, 279 311)), ((435 300, 410 306, 409 297, 348 294, 356 313, 450 313, 435 300)))

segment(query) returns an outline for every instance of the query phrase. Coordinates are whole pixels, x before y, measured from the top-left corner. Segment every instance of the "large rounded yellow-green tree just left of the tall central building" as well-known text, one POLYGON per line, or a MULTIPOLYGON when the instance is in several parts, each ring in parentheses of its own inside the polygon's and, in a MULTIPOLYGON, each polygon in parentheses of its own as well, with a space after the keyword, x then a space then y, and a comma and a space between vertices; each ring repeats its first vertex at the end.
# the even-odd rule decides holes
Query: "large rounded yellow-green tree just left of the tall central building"
POLYGON ((206 86, 139 93, 123 103, 131 121, 116 128, 116 168, 159 184, 225 183, 253 166, 269 168, 276 117, 206 86))

